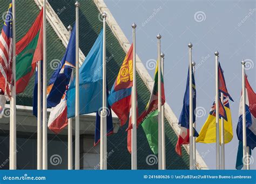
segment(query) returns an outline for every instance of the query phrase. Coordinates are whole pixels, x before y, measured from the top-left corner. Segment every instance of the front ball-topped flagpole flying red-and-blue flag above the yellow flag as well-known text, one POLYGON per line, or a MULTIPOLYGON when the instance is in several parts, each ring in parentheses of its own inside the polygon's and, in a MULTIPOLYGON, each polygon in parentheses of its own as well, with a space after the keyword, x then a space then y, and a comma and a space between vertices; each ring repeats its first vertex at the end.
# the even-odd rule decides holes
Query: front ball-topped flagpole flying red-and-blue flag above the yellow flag
POLYGON ((216 169, 220 169, 220 132, 219 132, 219 52, 215 53, 215 105, 216 105, 216 169))

